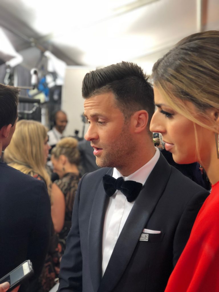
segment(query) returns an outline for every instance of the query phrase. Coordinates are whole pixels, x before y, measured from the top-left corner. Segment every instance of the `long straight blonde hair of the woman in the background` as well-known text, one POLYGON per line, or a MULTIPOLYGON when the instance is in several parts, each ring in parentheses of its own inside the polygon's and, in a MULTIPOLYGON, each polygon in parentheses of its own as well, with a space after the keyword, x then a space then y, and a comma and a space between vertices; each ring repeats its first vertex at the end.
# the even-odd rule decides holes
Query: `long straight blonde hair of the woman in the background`
POLYGON ((39 174, 45 180, 49 192, 51 180, 44 161, 46 138, 46 127, 40 122, 18 121, 11 143, 4 151, 4 161, 23 173, 39 174))

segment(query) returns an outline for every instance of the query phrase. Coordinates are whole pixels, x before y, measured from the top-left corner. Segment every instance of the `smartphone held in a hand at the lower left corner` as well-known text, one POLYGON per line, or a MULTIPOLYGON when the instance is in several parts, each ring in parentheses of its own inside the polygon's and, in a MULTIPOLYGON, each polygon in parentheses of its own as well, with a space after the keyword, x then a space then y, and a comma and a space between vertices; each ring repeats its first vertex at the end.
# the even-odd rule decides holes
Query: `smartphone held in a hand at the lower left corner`
POLYGON ((2 277, 0 279, 0 284, 4 282, 9 282, 10 288, 8 289, 8 291, 11 291, 12 289, 20 285, 23 280, 28 279, 33 274, 34 270, 32 267, 32 263, 30 260, 26 260, 18 267, 16 267, 13 271, 2 277))

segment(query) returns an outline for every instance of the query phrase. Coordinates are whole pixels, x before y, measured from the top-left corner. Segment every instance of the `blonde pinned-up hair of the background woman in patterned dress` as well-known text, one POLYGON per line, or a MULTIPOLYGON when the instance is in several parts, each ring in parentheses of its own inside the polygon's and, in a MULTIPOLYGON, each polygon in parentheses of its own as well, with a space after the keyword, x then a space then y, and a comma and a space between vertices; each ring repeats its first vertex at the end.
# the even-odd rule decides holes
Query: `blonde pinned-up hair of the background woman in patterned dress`
POLYGON ((52 149, 51 154, 55 159, 59 159, 60 155, 65 155, 70 164, 79 165, 80 152, 77 148, 78 141, 73 137, 62 138, 52 149))

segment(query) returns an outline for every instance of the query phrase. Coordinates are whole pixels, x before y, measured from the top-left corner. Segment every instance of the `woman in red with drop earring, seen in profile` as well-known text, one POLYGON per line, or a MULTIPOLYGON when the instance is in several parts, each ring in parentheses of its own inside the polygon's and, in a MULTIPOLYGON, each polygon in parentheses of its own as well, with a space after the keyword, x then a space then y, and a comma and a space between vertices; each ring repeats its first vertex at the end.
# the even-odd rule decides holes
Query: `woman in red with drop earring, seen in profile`
POLYGON ((150 130, 162 134, 176 163, 199 161, 212 183, 165 292, 218 292, 219 32, 181 40, 154 64, 152 77, 150 130))

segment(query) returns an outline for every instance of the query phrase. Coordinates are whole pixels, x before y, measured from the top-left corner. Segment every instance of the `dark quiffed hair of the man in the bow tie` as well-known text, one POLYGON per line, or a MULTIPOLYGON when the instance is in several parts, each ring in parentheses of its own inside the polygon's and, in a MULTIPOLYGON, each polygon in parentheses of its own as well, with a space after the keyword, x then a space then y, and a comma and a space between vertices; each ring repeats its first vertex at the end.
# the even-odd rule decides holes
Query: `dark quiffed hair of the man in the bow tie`
POLYGON ((112 92, 117 106, 126 120, 141 109, 149 115, 154 113, 154 93, 148 76, 141 67, 130 62, 121 62, 87 73, 82 83, 82 96, 89 98, 105 92, 112 92))

